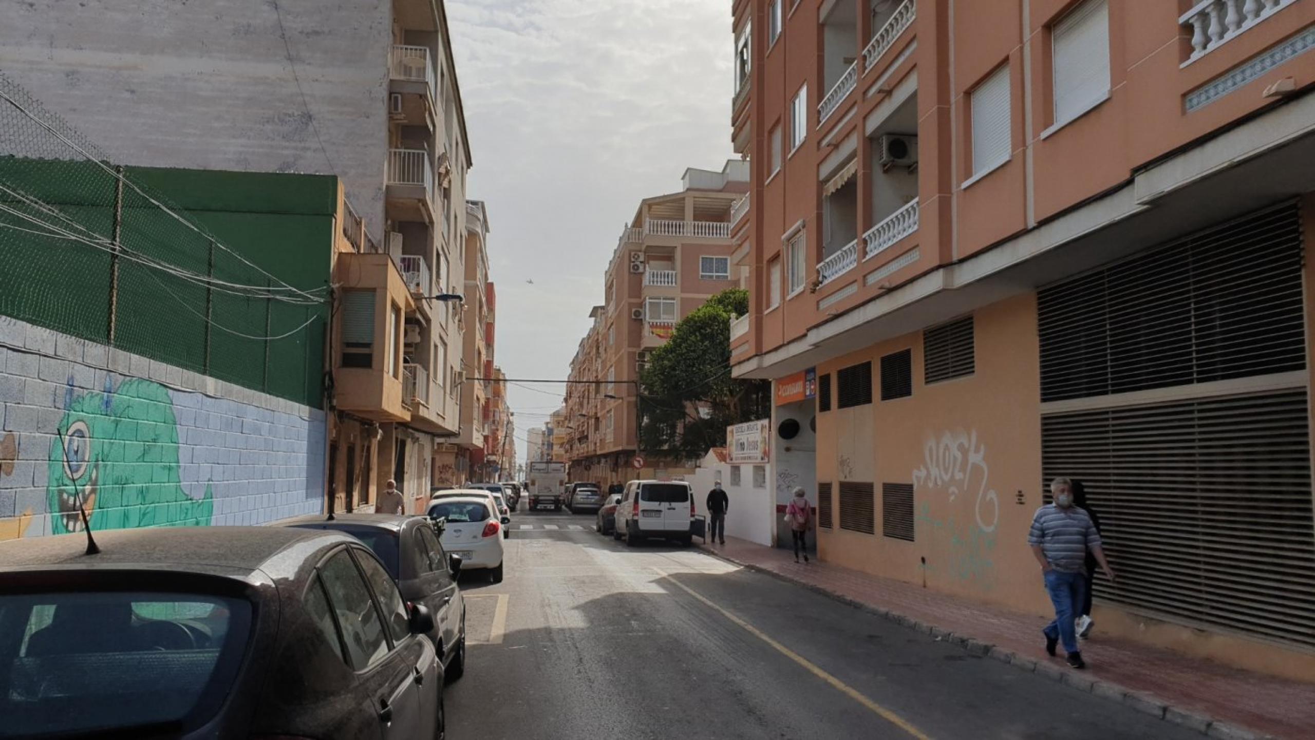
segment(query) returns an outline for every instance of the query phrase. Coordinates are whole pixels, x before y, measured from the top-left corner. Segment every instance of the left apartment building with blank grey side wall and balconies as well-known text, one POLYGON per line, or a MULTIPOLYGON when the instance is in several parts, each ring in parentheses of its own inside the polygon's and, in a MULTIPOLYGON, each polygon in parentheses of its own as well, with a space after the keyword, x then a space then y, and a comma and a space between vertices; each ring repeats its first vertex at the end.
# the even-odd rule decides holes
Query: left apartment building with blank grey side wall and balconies
POLYGON ((0 5, 0 68, 118 159, 339 177, 330 501, 370 510, 396 478, 419 506, 459 430, 464 344, 430 298, 463 290, 471 167, 443 3, 0 5), (154 41, 125 46, 143 17, 154 41))

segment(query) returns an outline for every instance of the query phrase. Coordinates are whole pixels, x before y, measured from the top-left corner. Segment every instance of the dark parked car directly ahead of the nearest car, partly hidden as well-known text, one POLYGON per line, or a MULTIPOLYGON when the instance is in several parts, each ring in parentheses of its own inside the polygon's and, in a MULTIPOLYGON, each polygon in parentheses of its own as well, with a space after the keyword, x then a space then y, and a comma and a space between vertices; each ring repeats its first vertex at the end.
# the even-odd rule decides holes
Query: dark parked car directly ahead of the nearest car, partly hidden
POLYGON ((434 616, 429 639, 443 660, 447 682, 466 673, 466 601, 456 585, 462 559, 443 551, 430 519, 392 514, 335 514, 326 519, 313 514, 283 519, 275 526, 333 530, 366 543, 388 569, 402 598, 429 607, 434 616))

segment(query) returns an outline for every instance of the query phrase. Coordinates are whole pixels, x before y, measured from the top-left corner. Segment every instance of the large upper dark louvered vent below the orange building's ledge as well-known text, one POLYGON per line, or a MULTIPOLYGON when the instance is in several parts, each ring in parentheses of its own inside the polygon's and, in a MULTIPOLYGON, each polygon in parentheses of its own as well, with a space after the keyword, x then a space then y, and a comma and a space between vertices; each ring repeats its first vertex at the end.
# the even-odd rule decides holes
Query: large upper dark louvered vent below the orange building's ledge
POLYGON ((1295 205, 1038 292, 1041 401, 1306 367, 1295 205))

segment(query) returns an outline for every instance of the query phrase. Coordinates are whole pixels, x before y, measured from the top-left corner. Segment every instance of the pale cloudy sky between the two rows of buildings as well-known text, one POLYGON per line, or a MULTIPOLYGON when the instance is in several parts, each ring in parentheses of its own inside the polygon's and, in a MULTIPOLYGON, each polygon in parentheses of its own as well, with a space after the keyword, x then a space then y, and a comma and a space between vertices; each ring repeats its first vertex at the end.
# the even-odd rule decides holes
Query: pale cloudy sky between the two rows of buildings
MULTIPOLYGON (((731 0, 447 0, 447 17, 467 195, 489 216, 494 361, 565 379, 639 200, 734 156, 731 0)), ((519 461, 564 388, 508 388, 519 461)))

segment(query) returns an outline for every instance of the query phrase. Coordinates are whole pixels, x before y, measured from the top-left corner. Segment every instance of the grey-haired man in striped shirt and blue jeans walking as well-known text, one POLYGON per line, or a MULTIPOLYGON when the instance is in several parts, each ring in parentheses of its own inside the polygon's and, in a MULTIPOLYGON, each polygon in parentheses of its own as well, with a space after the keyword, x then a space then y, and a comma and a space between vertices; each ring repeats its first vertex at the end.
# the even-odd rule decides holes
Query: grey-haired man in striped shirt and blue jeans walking
POLYGON ((1055 644, 1063 641, 1068 653, 1068 664, 1073 668, 1086 668, 1082 653, 1077 648, 1077 631, 1073 620, 1082 607, 1086 593, 1086 552, 1091 551, 1105 574, 1114 581, 1114 570, 1105 560, 1101 549, 1101 535, 1086 511, 1073 505, 1073 481, 1055 478, 1051 481, 1051 496, 1055 503, 1047 503, 1032 517, 1032 528, 1027 532, 1027 544, 1041 564, 1045 578, 1045 591, 1055 605, 1055 622, 1045 626, 1045 652, 1055 655, 1055 644))

